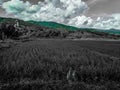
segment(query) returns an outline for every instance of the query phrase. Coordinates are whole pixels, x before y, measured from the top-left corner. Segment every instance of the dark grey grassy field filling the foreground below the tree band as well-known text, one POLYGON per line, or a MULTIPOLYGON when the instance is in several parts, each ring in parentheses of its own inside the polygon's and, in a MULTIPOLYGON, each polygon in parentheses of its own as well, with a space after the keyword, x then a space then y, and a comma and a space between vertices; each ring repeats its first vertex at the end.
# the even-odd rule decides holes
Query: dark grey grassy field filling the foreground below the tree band
POLYGON ((120 90, 120 41, 42 39, 0 50, 0 90, 120 90))

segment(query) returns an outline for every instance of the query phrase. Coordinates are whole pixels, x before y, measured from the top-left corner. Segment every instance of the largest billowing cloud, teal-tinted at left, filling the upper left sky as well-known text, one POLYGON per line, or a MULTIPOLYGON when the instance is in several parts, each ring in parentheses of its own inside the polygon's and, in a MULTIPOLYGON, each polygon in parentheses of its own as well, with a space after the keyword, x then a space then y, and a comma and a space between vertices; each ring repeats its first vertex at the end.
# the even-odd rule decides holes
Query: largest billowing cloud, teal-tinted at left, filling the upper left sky
POLYGON ((43 20, 66 22, 88 10, 86 3, 81 0, 45 0, 32 5, 30 2, 11 0, 2 7, 7 13, 12 13, 24 20, 43 20))

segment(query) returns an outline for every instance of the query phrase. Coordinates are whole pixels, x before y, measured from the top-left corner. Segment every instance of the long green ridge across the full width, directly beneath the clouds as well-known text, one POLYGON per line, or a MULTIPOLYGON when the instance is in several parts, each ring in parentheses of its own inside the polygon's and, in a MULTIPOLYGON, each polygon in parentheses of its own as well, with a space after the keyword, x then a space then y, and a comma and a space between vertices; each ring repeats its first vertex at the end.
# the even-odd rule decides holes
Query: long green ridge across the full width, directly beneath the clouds
MULTIPOLYGON (((9 23, 15 23, 16 19, 13 18, 0 18, 0 23, 2 22, 9 22, 9 23)), ((17 19, 18 20, 18 19, 17 19)), ((23 21, 23 20, 18 20, 21 24, 21 26, 41 26, 41 27, 48 27, 48 28, 53 28, 53 29, 63 29, 63 30, 70 30, 70 31, 88 31, 88 32, 103 32, 103 33, 108 33, 108 34, 116 34, 120 35, 120 30, 116 29, 109 29, 109 30, 102 30, 102 29, 93 29, 93 28, 77 28, 73 26, 68 26, 56 22, 46 22, 46 21, 23 21)))

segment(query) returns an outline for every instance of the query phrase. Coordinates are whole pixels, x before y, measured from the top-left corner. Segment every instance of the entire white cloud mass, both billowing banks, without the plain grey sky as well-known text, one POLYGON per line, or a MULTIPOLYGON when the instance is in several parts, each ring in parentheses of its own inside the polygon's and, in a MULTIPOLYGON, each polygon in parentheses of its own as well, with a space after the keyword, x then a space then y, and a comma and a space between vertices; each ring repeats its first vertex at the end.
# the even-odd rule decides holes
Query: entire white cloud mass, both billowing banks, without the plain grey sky
POLYGON ((54 21, 76 27, 120 29, 120 14, 92 19, 84 15, 89 7, 81 0, 45 0, 36 5, 29 1, 11 0, 4 2, 2 8, 8 14, 23 20, 54 21))

